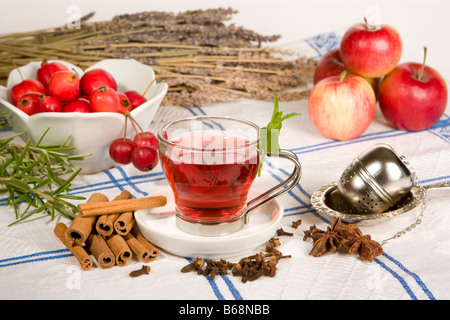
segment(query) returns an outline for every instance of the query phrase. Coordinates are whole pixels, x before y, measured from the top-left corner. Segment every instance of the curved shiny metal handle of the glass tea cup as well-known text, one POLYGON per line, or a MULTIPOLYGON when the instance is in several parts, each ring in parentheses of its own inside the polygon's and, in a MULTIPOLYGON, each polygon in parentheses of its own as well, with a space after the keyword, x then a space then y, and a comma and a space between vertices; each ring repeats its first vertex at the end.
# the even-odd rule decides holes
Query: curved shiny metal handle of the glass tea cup
POLYGON ((269 155, 269 156, 277 156, 279 158, 288 159, 291 162, 294 163, 294 170, 292 171, 289 178, 281 182, 280 184, 276 185, 272 189, 264 192, 263 194, 257 196, 253 200, 250 200, 247 203, 246 210, 244 212, 244 222, 248 223, 250 219, 250 213, 259 207, 263 206, 270 200, 273 200, 285 192, 290 191, 292 188, 295 187, 295 185, 298 183, 302 176, 302 166, 300 164, 300 161, 298 160, 298 157, 295 153, 293 153, 290 150, 281 149, 280 152, 276 155, 269 155))

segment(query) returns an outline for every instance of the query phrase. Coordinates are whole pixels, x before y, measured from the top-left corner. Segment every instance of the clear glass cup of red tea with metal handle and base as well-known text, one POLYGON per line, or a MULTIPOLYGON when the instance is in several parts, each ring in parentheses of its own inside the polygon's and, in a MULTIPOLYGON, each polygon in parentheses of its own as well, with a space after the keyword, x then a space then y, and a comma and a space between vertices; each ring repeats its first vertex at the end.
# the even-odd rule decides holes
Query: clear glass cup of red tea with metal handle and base
POLYGON ((200 236, 237 232, 252 211, 297 184, 297 156, 284 149, 268 152, 292 161, 294 170, 285 181, 247 201, 261 161, 260 132, 250 121, 226 116, 184 118, 158 131, 161 165, 174 194, 180 230, 200 236))

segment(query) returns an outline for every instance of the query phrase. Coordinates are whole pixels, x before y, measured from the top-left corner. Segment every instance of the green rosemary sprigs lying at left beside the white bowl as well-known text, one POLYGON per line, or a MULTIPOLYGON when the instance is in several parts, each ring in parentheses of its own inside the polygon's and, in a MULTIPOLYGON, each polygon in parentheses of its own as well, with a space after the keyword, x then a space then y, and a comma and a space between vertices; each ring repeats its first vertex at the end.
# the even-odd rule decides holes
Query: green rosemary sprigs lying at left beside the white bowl
POLYGON ((78 209, 69 200, 85 198, 69 194, 71 182, 81 171, 71 161, 87 155, 70 153, 75 149, 67 145, 70 137, 61 145, 42 145, 42 138, 37 144, 30 139, 24 145, 14 143, 22 134, 0 139, 0 194, 7 195, 5 204, 15 212, 15 221, 9 226, 36 213, 45 213, 52 220, 56 213, 73 219, 78 209))

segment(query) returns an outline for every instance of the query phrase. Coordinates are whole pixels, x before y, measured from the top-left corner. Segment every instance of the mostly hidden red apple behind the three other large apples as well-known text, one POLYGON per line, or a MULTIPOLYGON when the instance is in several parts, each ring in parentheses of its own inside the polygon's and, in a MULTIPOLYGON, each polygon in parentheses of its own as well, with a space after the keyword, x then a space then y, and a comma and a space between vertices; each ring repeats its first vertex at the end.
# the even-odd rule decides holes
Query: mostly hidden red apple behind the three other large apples
MULTIPOLYGON (((331 76, 339 76, 346 67, 341 59, 339 48, 328 51, 317 63, 314 70, 314 84, 324 78, 331 76)), ((380 78, 364 78, 372 86, 375 96, 378 97, 378 90, 380 86, 380 78)))

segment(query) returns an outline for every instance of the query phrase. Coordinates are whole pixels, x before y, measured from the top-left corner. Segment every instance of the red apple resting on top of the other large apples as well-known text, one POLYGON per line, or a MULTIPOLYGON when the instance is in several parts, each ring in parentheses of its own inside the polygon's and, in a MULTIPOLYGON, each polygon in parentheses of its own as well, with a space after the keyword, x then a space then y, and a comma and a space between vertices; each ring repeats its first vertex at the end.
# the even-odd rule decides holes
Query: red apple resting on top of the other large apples
POLYGON ((358 23, 344 34, 340 49, 342 61, 351 72, 365 78, 380 78, 400 61, 402 40, 389 25, 358 23))

